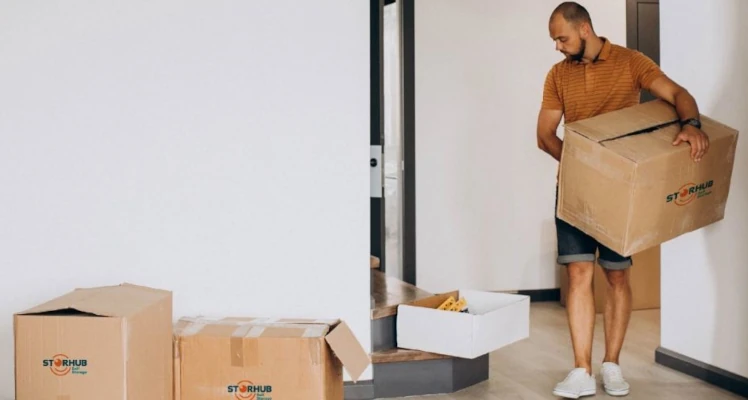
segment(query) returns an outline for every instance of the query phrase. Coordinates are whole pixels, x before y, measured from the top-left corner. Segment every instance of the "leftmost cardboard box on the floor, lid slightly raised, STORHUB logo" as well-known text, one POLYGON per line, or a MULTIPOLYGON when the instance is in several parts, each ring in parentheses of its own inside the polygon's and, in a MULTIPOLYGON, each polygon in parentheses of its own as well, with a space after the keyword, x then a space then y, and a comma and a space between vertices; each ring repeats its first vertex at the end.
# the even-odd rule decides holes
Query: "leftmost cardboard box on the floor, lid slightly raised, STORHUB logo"
POLYGON ((76 289, 15 314, 17 400, 171 400, 172 295, 76 289))

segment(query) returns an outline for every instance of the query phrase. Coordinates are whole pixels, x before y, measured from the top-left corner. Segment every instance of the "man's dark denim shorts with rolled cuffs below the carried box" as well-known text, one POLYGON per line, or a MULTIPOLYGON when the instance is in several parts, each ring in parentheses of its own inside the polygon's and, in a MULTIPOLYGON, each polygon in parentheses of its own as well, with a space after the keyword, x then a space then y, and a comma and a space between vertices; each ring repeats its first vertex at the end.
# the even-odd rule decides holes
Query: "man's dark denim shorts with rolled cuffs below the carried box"
MULTIPOLYGON (((558 187, 556 187, 558 204, 558 187)), ((595 252, 599 252, 598 264, 605 269, 622 270, 633 265, 631 257, 623 257, 605 247, 597 240, 571 226, 556 216, 556 239, 558 241, 558 263, 568 265, 573 262, 595 262, 595 252)))

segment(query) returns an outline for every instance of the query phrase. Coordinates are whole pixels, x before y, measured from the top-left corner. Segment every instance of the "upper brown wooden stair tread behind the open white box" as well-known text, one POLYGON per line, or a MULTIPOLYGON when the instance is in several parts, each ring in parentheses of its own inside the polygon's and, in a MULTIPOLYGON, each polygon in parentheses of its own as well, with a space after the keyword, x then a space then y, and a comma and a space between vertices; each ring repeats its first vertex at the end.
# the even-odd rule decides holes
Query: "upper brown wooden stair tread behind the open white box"
POLYGON ((379 270, 371 270, 371 296, 374 304, 371 319, 380 319, 397 314, 397 306, 432 297, 433 294, 419 289, 397 278, 387 276, 379 270))

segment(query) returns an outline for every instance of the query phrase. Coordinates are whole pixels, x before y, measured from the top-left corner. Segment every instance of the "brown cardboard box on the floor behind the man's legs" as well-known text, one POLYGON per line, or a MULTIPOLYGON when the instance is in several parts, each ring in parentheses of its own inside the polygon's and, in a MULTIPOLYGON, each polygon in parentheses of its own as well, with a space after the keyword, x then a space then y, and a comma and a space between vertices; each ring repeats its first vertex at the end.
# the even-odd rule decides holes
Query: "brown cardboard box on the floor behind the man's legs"
MULTIPOLYGON (((660 308, 660 246, 655 246, 632 256, 634 265, 629 271, 631 283, 632 309, 648 310, 660 308)), ((565 266, 561 268, 561 305, 566 306, 569 293, 569 280, 565 266)), ((595 311, 605 311, 605 298, 608 291, 608 281, 602 267, 595 264, 593 277, 593 292, 595 296, 595 311)))

